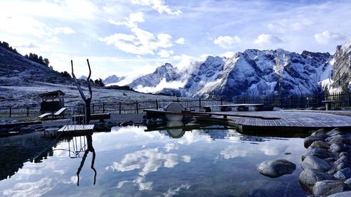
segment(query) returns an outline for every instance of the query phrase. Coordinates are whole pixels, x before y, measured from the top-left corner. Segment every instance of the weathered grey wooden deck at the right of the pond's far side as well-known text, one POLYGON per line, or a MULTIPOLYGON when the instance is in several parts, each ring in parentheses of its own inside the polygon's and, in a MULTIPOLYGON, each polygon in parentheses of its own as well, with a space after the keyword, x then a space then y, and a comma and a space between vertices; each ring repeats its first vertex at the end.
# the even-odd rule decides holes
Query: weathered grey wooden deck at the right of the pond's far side
POLYGON ((212 116, 195 115, 195 118, 198 121, 214 121, 234 125, 243 133, 253 130, 256 132, 261 130, 305 132, 316 128, 351 128, 350 116, 334 114, 298 111, 227 111, 211 114, 212 116))

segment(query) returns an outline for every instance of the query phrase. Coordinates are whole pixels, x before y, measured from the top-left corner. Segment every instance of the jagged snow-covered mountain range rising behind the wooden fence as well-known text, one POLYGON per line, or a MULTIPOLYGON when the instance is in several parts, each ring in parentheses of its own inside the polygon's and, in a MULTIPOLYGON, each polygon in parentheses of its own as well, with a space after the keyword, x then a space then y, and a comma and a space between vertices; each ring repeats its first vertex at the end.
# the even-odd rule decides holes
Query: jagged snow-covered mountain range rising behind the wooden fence
POLYGON ((331 60, 329 53, 249 49, 230 58, 208 56, 192 63, 191 73, 165 64, 129 86, 187 97, 317 94, 322 93, 320 82, 331 76, 331 60), (160 89, 162 81, 182 86, 160 89))

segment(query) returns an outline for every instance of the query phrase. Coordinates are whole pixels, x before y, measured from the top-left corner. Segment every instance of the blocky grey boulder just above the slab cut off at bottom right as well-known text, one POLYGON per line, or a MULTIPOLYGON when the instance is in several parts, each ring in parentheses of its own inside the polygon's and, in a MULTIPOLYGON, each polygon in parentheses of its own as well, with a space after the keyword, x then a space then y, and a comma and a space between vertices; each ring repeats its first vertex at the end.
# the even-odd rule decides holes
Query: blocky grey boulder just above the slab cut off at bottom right
POLYGON ((339 181, 324 180, 317 182, 313 186, 313 194, 317 196, 331 195, 341 191, 344 191, 344 183, 339 181))

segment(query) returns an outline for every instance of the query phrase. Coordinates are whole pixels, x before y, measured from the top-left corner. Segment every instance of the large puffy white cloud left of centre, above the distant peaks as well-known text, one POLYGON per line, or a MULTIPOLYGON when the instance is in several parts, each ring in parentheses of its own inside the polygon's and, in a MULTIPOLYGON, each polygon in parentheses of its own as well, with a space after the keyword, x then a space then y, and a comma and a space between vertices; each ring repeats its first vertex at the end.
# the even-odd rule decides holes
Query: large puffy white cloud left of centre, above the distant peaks
POLYGON ((99 40, 107 45, 114 44, 119 50, 135 55, 154 55, 159 48, 173 46, 172 36, 169 34, 158 34, 156 38, 151 32, 138 27, 132 28, 131 32, 134 34, 113 34, 99 40))

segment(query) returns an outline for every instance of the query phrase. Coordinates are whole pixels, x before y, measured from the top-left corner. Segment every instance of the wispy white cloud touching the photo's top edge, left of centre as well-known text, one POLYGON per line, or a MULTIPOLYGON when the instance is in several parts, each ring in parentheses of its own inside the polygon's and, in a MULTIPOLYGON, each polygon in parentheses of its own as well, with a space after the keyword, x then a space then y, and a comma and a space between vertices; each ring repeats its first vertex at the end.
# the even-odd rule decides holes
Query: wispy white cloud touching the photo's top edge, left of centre
POLYGON ((172 11, 169 6, 164 4, 164 0, 131 0, 132 4, 142 5, 142 6, 151 6, 158 13, 167 13, 168 15, 180 15, 182 11, 172 11))

